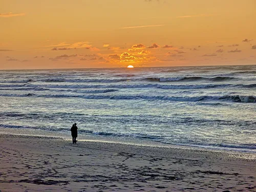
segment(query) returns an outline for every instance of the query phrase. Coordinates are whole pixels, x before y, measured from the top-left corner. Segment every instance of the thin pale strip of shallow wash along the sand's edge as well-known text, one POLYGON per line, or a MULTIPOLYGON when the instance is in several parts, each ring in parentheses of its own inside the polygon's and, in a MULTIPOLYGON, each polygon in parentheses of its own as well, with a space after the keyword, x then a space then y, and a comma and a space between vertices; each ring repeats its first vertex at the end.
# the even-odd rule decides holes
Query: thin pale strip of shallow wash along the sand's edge
MULTIPOLYGON (((22 128, 5 128, 0 127, 0 134, 11 135, 27 135, 27 136, 39 136, 39 137, 56 137, 61 139, 70 140, 70 131, 46 131, 46 130, 34 130, 34 129, 22 129, 22 128)), ((192 149, 200 151, 214 151, 223 153, 242 153, 242 154, 254 154, 256 159, 256 149, 249 148, 231 148, 231 147, 218 147, 218 146, 196 146, 196 145, 182 145, 182 144, 169 144, 161 143, 151 140, 144 140, 139 138, 123 138, 123 137, 110 137, 100 135, 85 135, 79 134, 79 141, 93 141, 93 142, 110 142, 120 143, 123 145, 144 146, 144 147, 162 147, 162 148, 177 148, 177 149, 192 149)))

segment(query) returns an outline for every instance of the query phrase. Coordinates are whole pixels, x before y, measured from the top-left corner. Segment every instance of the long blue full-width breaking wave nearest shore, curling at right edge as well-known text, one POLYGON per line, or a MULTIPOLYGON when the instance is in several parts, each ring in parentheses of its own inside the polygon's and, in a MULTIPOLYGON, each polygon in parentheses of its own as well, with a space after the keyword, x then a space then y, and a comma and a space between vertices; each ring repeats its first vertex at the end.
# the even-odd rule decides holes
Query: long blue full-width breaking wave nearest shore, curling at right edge
POLYGON ((228 102, 256 102, 256 96, 253 95, 225 95, 225 96, 195 96, 195 97, 176 97, 165 95, 99 95, 99 94, 0 94, 0 97, 44 97, 44 98, 82 98, 82 99, 111 99, 111 100, 163 100, 163 101, 180 101, 180 102, 197 102, 197 101, 228 101, 228 102))

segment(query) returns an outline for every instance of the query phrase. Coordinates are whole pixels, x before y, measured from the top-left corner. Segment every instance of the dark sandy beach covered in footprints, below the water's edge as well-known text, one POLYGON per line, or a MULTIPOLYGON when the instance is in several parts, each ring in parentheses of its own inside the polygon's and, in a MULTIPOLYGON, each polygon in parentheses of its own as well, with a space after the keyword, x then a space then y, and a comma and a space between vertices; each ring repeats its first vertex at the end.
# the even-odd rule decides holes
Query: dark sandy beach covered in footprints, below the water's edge
POLYGON ((0 134, 0 191, 255 191, 255 154, 0 134))

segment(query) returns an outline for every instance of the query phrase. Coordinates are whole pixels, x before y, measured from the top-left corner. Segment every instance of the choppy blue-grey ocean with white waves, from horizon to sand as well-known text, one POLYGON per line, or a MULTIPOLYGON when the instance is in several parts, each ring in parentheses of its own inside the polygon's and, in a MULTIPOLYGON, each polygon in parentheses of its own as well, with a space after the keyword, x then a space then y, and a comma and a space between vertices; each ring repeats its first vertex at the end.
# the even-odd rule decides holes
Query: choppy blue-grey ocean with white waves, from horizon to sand
POLYGON ((0 71, 0 132, 256 153, 256 65, 0 71))

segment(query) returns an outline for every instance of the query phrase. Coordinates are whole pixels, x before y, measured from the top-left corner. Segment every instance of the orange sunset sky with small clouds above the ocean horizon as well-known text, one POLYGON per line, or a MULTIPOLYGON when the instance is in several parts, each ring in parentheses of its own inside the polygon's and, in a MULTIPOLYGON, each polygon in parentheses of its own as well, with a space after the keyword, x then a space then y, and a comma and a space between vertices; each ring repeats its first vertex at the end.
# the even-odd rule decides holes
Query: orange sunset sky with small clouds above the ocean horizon
POLYGON ((1 0, 0 70, 256 64, 255 0, 1 0))

